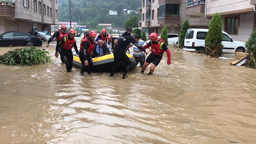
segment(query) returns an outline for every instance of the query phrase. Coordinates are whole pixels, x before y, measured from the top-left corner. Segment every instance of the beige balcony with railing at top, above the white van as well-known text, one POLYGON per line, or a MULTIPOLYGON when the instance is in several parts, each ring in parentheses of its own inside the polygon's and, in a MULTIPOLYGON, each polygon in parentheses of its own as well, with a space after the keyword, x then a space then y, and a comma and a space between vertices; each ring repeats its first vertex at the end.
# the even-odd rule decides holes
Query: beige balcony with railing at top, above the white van
POLYGON ((205 0, 188 0, 185 15, 204 16, 205 0))

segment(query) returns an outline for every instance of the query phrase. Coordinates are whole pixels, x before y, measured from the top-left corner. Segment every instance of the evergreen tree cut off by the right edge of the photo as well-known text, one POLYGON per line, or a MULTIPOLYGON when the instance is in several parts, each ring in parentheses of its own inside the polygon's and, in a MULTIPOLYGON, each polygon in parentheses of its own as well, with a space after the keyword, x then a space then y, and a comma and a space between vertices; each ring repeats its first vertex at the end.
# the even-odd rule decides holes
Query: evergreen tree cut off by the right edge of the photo
POLYGON ((249 68, 256 69, 256 28, 245 43, 245 47, 248 48, 249 53, 251 53, 250 56, 247 57, 245 65, 249 68))

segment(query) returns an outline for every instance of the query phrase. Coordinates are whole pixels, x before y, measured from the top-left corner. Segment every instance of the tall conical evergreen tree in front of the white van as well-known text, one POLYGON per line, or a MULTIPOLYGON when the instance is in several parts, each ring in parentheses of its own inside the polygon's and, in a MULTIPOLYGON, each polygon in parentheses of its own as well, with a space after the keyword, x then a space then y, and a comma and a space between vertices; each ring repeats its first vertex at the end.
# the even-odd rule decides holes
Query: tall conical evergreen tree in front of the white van
POLYGON ((216 12, 210 21, 209 30, 205 38, 206 54, 219 57, 222 54, 222 19, 216 12))

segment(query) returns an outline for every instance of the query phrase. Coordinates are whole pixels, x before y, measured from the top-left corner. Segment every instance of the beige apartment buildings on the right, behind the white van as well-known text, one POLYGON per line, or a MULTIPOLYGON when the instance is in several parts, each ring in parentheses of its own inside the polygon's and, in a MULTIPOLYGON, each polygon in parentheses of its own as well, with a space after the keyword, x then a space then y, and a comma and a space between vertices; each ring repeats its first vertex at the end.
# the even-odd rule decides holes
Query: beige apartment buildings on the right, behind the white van
POLYGON ((222 16, 222 30, 237 41, 246 42, 255 28, 256 0, 142 0, 138 26, 149 33, 178 33, 185 20, 191 28, 208 29, 212 15, 222 16))

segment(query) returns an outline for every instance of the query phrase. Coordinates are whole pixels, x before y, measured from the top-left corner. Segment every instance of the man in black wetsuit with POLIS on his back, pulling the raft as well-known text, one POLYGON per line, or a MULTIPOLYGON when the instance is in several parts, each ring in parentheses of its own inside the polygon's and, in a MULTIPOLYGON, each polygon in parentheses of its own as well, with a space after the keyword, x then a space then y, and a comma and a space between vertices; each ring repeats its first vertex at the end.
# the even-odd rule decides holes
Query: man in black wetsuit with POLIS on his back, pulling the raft
POLYGON ((114 72, 116 71, 119 62, 124 62, 124 64, 126 64, 126 68, 124 69, 122 78, 125 79, 128 71, 131 67, 131 61, 130 61, 129 57, 126 55, 126 52, 127 52, 127 49, 128 49, 128 46, 130 45, 130 43, 137 46, 140 50, 142 50, 144 52, 146 51, 145 49, 143 49, 143 47, 141 45, 139 45, 135 41, 135 39, 131 36, 131 34, 132 34, 132 28, 127 27, 125 32, 122 35, 120 35, 120 37, 118 38, 116 47, 114 49, 114 65, 112 67, 110 77, 114 76, 114 72))

